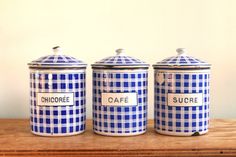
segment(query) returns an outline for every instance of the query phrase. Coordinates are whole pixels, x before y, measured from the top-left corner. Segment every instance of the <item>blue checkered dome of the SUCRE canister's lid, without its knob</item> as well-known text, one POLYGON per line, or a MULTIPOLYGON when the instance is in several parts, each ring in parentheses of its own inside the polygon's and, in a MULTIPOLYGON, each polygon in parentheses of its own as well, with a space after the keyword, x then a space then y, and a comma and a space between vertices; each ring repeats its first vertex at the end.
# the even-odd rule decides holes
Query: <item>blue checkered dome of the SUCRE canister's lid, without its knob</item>
POLYGON ((183 65, 183 66, 206 66, 208 63, 186 55, 177 55, 157 62, 155 66, 161 65, 183 65))

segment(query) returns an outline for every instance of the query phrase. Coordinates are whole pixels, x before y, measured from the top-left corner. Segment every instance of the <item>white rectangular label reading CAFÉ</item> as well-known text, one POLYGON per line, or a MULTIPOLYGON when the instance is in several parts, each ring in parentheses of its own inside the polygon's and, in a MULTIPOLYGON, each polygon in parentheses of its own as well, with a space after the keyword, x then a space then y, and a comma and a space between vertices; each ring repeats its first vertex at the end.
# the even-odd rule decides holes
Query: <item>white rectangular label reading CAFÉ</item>
POLYGON ((104 106, 136 106, 137 93, 102 93, 104 106))

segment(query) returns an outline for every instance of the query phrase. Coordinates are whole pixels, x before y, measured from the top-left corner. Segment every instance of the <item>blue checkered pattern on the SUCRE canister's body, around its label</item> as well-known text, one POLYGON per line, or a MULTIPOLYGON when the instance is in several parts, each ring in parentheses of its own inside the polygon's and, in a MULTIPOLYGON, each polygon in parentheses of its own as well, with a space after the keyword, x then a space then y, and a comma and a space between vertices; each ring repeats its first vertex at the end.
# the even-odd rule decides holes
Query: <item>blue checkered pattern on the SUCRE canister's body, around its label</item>
MULTIPOLYGON (((155 71, 155 76, 158 70, 155 71)), ((155 128, 162 132, 189 134, 208 130, 209 73, 159 73, 164 82, 155 81, 155 128), (201 106, 167 106, 167 93, 203 93, 201 106)))

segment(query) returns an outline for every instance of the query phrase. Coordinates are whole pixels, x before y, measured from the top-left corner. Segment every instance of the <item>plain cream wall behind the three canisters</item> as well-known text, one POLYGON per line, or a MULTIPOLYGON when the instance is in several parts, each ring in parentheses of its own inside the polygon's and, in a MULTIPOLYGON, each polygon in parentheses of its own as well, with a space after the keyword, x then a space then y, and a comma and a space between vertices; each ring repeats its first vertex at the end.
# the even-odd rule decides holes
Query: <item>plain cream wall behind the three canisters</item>
MULTIPOLYGON (((55 45, 88 64, 116 48, 153 64, 185 47, 213 64, 211 116, 236 118, 235 0, 0 0, 0 118, 29 116, 27 63, 55 45)), ((149 76, 152 118, 152 68, 149 76)))

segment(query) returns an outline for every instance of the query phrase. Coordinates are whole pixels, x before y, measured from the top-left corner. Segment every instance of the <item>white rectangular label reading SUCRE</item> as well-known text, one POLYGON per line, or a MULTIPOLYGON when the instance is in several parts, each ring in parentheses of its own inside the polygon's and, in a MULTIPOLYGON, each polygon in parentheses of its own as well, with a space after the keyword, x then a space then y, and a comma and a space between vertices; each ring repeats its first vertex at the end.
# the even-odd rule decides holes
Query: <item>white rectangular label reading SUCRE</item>
POLYGON ((168 106, 201 106, 203 103, 202 93, 173 94, 168 93, 168 106))

